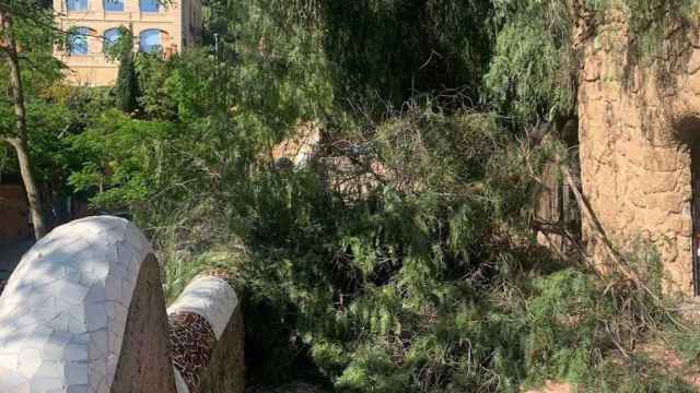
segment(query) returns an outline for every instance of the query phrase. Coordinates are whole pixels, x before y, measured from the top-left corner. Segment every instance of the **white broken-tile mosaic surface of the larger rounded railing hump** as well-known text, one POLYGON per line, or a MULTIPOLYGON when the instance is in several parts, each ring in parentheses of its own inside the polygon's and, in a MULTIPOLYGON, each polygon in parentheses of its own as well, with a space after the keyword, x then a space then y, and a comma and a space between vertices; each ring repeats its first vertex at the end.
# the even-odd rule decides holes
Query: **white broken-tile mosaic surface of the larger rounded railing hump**
POLYGON ((27 251, 0 297, 0 392, 107 393, 151 252, 135 225, 107 216, 60 226, 27 251))

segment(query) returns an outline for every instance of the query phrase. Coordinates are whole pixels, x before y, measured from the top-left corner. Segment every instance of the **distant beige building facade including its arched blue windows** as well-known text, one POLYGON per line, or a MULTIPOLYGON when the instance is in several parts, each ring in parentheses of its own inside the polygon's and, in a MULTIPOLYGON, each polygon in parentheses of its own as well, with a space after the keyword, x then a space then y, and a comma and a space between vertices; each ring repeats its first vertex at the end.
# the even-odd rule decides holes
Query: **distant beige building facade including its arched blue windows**
POLYGON ((54 0, 58 27, 71 32, 69 48, 55 56, 68 66, 77 85, 109 86, 119 64, 105 47, 119 38, 119 27, 133 32, 135 50, 171 56, 201 37, 201 0, 54 0))

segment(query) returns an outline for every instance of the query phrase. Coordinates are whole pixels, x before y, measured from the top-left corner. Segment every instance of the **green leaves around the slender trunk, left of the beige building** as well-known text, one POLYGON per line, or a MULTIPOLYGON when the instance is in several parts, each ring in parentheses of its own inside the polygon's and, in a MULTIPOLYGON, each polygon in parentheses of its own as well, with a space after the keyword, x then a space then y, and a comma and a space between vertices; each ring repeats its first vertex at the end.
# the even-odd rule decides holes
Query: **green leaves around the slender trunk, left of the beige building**
MULTIPOLYGON (((12 17, 12 31, 0 28, 0 41, 11 33, 18 48, 25 107, 30 156, 35 178, 46 184, 45 190, 67 193, 65 180, 68 172, 80 163, 65 155, 66 131, 73 119, 62 106, 50 105, 44 93, 62 78, 60 61, 52 57, 54 46, 60 46, 62 37, 54 28, 54 15, 37 1, 2 0, 0 8, 12 17)), ((5 52, 0 49, 0 175, 19 174, 12 147, 2 140, 13 136, 15 109, 11 96, 10 69, 5 52)))

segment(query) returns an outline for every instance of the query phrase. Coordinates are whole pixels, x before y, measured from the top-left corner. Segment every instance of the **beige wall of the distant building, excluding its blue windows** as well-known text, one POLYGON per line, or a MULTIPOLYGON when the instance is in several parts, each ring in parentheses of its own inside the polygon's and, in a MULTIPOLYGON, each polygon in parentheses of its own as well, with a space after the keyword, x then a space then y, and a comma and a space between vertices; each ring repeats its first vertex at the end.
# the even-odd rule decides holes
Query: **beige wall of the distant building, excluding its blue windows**
POLYGON ((77 85, 109 86, 117 79, 119 64, 108 60, 103 51, 104 33, 126 26, 132 29, 135 50, 139 36, 147 29, 161 31, 161 44, 165 56, 180 52, 184 47, 196 45, 201 38, 201 0, 174 0, 159 12, 142 12, 139 0, 124 0, 124 11, 105 11, 104 0, 89 0, 88 11, 68 11, 66 0, 54 0, 57 24, 62 31, 88 27, 86 55, 70 55, 57 50, 55 56, 70 69, 68 80, 77 85))

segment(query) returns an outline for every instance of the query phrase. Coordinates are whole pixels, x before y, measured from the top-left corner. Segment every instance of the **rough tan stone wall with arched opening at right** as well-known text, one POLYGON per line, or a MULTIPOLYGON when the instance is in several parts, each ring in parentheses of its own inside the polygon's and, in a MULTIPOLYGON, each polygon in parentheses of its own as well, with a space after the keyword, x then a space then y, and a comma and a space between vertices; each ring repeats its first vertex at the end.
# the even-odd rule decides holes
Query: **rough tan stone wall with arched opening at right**
MULTIPOLYGON (((579 138, 588 252, 602 269, 610 240, 621 253, 661 253, 667 291, 693 294, 691 145, 700 140, 700 43, 677 33, 673 56, 652 69, 630 52, 621 16, 582 48, 579 138), (653 71, 656 70, 656 71, 653 71), (658 71, 663 70, 663 71, 658 71)), ((700 159, 700 158, 699 158, 700 159)))

